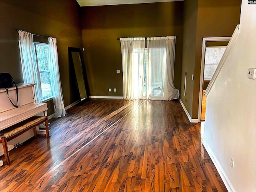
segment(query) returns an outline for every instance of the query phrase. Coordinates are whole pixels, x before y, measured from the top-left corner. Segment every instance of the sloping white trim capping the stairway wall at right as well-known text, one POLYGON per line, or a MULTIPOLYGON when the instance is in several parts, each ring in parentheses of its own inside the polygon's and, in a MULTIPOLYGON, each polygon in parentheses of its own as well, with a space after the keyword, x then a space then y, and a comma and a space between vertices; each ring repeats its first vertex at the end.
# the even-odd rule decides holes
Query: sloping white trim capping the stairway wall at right
POLYGON ((214 84, 216 78, 218 77, 218 74, 220 73, 220 70, 222 69, 224 63, 226 62, 226 59, 228 58, 228 55, 230 53, 230 51, 232 50, 235 42, 236 42, 236 39, 238 38, 239 36, 239 33, 240 33, 240 30, 239 30, 239 25, 236 26, 236 29, 234 30, 233 34, 232 34, 232 37, 228 43, 228 46, 220 60, 220 63, 218 64, 214 74, 213 74, 213 77, 212 77, 212 80, 210 81, 206 91, 205 91, 205 96, 208 95, 208 93, 210 92, 211 88, 212 88, 212 85, 214 84))

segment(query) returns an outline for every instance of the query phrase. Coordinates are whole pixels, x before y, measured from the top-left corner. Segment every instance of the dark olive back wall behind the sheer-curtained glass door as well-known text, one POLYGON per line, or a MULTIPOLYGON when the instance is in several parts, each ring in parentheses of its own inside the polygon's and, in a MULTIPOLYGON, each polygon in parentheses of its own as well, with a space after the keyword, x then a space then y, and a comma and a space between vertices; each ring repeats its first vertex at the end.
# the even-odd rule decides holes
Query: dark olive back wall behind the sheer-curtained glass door
POLYGON ((82 40, 91 96, 123 96, 120 37, 176 35, 174 85, 180 89, 183 2, 81 8, 82 40), (116 69, 121 73, 117 74, 116 69), (112 92, 108 92, 112 88, 112 92), (117 92, 113 92, 117 88, 117 92))

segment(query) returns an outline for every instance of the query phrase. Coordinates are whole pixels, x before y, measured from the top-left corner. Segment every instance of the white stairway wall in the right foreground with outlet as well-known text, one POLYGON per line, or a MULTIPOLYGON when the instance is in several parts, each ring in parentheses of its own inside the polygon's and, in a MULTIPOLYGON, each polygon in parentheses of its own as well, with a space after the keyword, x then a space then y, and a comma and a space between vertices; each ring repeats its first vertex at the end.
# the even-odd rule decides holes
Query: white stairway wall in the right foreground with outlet
POLYGON ((256 5, 242 0, 240 34, 207 96, 203 139, 229 192, 256 192, 256 80, 248 68, 256 68, 256 5))

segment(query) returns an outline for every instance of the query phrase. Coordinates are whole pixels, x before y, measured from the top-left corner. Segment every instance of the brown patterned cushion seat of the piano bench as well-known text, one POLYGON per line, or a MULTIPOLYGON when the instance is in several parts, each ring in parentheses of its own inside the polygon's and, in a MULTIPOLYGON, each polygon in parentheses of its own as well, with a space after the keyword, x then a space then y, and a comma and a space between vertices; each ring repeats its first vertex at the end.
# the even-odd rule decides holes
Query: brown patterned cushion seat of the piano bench
POLYGON ((0 139, 2 137, 10 137, 18 132, 21 132, 22 130, 25 130, 26 128, 33 126, 34 124, 43 121, 46 119, 46 116, 33 116, 31 118, 28 118, 25 121, 22 121, 14 126, 11 126, 9 128, 6 128, 4 130, 0 131, 0 139))

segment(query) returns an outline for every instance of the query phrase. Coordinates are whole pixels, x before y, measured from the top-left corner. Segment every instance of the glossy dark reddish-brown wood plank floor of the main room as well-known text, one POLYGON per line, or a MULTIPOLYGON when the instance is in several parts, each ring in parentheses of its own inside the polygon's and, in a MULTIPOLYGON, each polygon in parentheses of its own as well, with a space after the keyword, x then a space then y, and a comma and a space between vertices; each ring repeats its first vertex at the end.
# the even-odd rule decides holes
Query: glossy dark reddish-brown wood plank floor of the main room
POLYGON ((227 192, 180 103, 94 99, 10 151, 1 192, 227 192))

